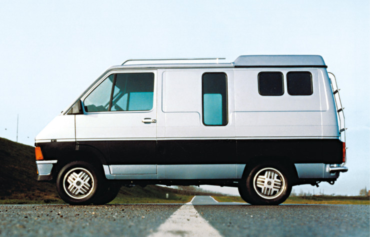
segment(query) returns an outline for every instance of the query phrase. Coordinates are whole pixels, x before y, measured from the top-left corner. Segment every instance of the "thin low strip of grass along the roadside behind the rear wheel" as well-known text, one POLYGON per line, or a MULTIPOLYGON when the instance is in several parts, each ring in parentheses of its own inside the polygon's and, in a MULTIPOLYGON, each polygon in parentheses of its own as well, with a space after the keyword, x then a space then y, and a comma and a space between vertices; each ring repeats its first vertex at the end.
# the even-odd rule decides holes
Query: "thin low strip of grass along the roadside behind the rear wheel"
MULTIPOLYGON (((240 196, 213 196, 219 202, 245 202, 240 196)), ((367 196, 289 196, 284 204, 360 204, 369 205, 367 196)))

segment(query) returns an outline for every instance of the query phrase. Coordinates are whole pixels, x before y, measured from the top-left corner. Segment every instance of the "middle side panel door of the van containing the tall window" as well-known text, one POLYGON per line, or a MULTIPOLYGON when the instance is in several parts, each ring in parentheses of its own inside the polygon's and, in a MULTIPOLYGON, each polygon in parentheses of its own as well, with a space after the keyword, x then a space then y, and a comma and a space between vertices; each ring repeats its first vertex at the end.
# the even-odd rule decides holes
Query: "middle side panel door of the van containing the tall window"
POLYGON ((163 178, 235 178, 232 69, 168 69, 161 97, 157 160, 165 164, 163 178))

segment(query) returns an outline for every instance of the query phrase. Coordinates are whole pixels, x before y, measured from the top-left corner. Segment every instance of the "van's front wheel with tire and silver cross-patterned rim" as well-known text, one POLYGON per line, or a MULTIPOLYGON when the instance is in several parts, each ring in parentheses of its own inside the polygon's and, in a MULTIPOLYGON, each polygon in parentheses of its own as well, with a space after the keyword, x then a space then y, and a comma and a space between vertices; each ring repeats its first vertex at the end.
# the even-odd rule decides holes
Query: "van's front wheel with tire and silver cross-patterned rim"
POLYGON ((92 203, 104 187, 104 177, 92 164, 73 161, 64 165, 56 178, 61 199, 72 205, 92 203))

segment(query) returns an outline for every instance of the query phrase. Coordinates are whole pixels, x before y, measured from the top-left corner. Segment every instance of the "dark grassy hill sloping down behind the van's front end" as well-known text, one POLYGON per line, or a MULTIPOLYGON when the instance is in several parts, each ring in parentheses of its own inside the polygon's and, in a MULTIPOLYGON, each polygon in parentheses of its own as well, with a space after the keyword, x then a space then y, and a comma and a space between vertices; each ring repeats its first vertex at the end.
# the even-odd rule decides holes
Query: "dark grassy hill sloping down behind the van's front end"
MULTIPOLYGON (((36 181, 36 177, 34 147, 0 137, 0 203, 63 203, 54 183, 36 181)), ((157 185, 122 187, 111 203, 183 203, 194 194, 217 195, 190 189, 179 191, 157 185)))

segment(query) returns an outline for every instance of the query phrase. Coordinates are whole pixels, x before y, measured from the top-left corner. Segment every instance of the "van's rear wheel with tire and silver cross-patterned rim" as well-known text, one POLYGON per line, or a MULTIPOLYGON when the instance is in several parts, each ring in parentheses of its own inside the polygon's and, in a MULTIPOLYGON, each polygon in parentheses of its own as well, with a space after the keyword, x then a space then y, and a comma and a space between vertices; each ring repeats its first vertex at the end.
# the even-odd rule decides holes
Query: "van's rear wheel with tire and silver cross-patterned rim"
POLYGON ((250 204, 278 205, 290 195, 290 173, 279 163, 258 164, 244 172, 238 190, 250 204))

